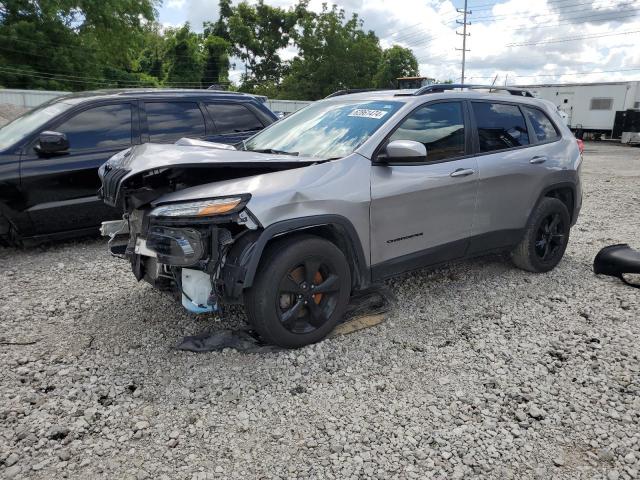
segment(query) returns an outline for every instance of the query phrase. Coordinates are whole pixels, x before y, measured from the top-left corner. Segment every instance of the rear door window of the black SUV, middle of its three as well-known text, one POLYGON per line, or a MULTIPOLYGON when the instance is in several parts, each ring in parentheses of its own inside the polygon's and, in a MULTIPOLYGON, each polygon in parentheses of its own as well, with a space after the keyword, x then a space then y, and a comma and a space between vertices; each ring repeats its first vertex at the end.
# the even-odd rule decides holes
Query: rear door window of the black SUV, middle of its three
POLYGON ((205 135, 204 117, 195 102, 147 102, 145 110, 151 142, 168 143, 205 135))

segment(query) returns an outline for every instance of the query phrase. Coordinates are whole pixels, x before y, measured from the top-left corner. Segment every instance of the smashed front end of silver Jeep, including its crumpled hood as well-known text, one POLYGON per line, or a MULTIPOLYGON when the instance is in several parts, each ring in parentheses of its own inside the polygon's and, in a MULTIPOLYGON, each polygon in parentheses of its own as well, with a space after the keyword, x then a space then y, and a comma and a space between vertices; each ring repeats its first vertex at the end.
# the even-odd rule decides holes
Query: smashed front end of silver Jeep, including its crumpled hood
POLYGON ((215 312, 221 301, 242 301, 242 262, 261 226, 247 209, 248 193, 189 201, 163 196, 311 163, 167 145, 142 145, 116 157, 100 171, 103 200, 125 212, 123 220, 102 224, 102 234, 110 238, 109 249, 131 263, 138 281, 174 293, 193 313, 215 312), (158 155, 167 163, 160 165, 158 155))

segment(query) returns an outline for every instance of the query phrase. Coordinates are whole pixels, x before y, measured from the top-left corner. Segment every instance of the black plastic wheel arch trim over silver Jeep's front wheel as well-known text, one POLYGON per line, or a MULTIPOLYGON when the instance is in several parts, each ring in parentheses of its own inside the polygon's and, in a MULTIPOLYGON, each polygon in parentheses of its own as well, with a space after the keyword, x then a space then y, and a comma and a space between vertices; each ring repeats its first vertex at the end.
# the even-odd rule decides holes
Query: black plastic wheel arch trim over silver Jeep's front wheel
POLYGON ((351 270, 352 288, 366 288, 371 283, 371 272, 353 224, 341 215, 314 215, 276 222, 234 245, 222 272, 225 296, 238 299, 244 289, 253 285, 265 248, 271 242, 299 233, 324 238, 344 253, 351 270))

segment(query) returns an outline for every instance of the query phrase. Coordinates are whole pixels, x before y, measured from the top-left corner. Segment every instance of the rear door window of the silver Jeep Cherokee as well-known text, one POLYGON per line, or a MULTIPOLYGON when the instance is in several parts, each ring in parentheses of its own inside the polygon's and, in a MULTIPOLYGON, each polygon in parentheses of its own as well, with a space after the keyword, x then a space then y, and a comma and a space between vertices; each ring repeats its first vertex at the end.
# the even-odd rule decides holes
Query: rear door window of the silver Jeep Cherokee
POLYGON ((526 123, 516 105, 484 102, 472 105, 481 152, 529 145, 526 123))

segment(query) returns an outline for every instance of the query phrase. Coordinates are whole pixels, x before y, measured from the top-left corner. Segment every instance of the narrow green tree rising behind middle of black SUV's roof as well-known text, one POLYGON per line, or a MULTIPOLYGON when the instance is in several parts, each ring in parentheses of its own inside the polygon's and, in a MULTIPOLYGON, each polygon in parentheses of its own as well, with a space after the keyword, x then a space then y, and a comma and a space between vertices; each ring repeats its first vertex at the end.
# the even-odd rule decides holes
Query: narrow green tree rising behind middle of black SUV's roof
POLYGON ((202 54, 198 35, 187 22, 180 28, 167 30, 165 36, 166 83, 173 87, 200 87, 202 54))

